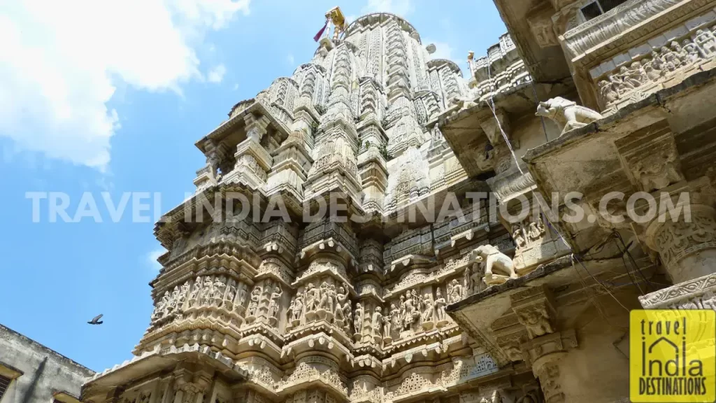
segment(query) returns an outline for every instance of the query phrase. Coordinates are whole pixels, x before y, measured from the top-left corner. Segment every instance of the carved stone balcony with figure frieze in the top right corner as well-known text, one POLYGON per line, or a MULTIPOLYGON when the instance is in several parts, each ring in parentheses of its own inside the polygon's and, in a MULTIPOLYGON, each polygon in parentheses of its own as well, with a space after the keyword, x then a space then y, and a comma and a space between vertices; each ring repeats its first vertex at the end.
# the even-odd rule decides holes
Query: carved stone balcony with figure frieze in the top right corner
POLYGON ((560 41, 585 105, 603 115, 714 67, 716 1, 631 0, 560 41))

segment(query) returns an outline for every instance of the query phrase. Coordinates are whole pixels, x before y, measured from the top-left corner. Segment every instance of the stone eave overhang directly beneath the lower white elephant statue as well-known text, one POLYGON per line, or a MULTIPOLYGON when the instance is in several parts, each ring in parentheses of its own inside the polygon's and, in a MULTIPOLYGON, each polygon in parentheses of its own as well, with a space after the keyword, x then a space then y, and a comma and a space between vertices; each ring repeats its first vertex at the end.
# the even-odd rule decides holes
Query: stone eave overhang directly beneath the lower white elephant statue
MULTIPOLYGON (((556 290, 553 298, 556 304, 554 308, 559 310, 579 306, 581 307, 579 309, 584 309, 591 303, 591 295, 616 294, 619 290, 634 285, 630 281, 630 274, 624 270, 621 255, 602 260, 582 260, 582 262, 586 270, 579 262, 573 261, 571 255, 559 257, 546 265, 540 265, 521 278, 508 280, 506 283, 493 285, 480 293, 469 295, 458 303, 448 305, 446 310, 460 328, 474 338, 490 354, 495 363, 503 368, 511 364, 513 359, 505 350, 504 342, 500 340, 504 335, 495 332, 493 324, 513 315, 513 308, 516 308, 512 301, 513 295, 527 290, 546 288, 556 290)), ((654 265, 649 266, 646 258, 638 260, 637 264, 642 267, 642 273, 647 277, 653 275, 656 270, 654 265)), ((642 280, 637 279, 637 281, 642 280)), ((645 286, 642 283, 642 287, 645 286)), ((632 303, 634 305, 632 308, 639 308, 634 301, 626 303, 627 305, 632 303)), ((553 334, 559 333, 557 331, 553 334)), ((561 333, 565 337, 571 334, 569 329, 564 329, 561 333)))

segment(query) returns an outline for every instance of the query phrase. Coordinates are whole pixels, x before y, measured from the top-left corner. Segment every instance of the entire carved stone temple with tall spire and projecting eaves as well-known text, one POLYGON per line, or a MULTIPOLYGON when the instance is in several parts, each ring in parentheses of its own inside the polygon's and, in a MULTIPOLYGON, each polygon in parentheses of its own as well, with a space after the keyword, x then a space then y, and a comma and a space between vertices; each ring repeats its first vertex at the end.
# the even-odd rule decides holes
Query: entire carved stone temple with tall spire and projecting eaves
POLYGON ((509 33, 462 69, 329 11, 196 143, 150 325, 82 401, 628 402, 629 310, 716 309, 716 0, 494 1, 509 33), (406 218, 426 201, 460 214, 406 218))

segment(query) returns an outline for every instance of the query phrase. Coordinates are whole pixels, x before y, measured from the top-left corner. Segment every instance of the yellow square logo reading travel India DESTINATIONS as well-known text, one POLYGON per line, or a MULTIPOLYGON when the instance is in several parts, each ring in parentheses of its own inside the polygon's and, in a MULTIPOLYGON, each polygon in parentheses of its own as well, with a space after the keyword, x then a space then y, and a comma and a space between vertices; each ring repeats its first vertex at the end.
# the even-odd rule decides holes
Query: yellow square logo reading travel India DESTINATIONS
POLYGON ((632 310, 629 399, 634 403, 714 402, 715 341, 715 310, 632 310))

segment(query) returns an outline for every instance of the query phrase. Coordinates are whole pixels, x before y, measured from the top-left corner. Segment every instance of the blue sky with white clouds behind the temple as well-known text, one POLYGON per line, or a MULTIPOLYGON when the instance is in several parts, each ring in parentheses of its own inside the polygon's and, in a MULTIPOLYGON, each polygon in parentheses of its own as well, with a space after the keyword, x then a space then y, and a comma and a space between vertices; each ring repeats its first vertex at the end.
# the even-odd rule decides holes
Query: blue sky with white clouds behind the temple
POLYGON ((85 191, 175 207, 204 163, 195 141, 308 61, 337 5, 404 16, 463 72, 505 32, 490 0, 0 1, 0 323, 95 371, 129 359, 163 251, 153 222, 100 203, 101 223, 53 223, 47 199, 33 222, 26 192, 68 194, 71 216, 85 191))

